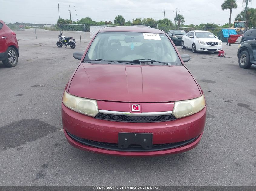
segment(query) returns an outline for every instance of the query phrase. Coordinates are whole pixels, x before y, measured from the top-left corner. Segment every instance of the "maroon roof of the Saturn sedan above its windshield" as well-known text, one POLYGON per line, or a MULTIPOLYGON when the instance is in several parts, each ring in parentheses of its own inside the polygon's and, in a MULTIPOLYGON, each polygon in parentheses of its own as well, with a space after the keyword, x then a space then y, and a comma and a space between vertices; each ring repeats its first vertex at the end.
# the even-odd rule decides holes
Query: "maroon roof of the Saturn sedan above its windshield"
POLYGON ((162 30, 148 28, 148 27, 137 27, 137 26, 118 26, 118 27, 104 27, 99 32, 141 32, 141 33, 161 33, 162 30))

